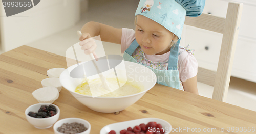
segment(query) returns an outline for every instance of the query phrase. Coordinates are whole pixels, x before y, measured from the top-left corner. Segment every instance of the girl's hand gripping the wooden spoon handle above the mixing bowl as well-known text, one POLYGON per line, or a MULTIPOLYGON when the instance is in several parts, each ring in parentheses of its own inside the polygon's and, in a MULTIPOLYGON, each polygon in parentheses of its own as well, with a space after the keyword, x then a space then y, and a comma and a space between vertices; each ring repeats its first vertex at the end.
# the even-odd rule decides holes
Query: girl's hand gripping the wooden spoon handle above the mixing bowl
POLYGON ((97 44, 95 43, 94 39, 90 36, 90 34, 82 33, 79 40, 80 40, 79 45, 81 46, 81 49, 83 50, 83 52, 86 55, 93 53, 94 58, 97 60, 98 57, 94 52, 96 50, 97 44))

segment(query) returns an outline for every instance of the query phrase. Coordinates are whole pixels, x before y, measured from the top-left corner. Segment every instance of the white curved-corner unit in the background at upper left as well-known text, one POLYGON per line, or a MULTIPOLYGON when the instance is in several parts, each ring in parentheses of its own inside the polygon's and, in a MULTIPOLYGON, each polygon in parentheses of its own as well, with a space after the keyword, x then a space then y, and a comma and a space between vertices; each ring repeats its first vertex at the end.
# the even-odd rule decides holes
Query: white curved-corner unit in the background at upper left
POLYGON ((6 17, 0 4, 2 52, 50 36, 80 20, 80 0, 42 0, 35 7, 6 17))

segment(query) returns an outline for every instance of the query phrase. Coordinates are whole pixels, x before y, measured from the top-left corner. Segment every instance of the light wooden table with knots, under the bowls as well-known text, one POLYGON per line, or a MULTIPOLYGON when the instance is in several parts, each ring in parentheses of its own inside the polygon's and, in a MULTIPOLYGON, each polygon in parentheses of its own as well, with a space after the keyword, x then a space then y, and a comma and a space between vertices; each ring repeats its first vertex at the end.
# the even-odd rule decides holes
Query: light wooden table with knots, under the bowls
MULTIPOLYGON (((29 124, 25 110, 38 103, 31 93, 42 87, 40 82, 48 78, 47 70, 56 67, 67 68, 66 58, 29 46, 0 55, 1 134, 54 133, 53 127, 37 129, 29 124)), ((176 133, 256 133, 256 112, 159 84, 119 114, 92 111, 65 88, 54 104, 61 111, 59 120, 69 117, 85 119, 91 123, 91 133, 99 133, 102 127, 111 123, 146 117, 168 121, 176 133), (185 128, 187 130, 183 130, 185 128), (236 128, 242 132, 236 132, 236 128)))

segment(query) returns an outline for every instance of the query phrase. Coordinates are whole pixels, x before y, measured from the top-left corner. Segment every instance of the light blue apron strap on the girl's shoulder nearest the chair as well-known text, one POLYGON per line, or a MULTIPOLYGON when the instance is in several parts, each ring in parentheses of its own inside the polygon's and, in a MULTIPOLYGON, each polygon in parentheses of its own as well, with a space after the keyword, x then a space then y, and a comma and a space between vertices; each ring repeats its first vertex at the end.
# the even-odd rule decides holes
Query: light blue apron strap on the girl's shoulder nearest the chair
POLYGON ((168 70, 178 70, 179 45, 180 45, 180 39, 170 49, 168 70))

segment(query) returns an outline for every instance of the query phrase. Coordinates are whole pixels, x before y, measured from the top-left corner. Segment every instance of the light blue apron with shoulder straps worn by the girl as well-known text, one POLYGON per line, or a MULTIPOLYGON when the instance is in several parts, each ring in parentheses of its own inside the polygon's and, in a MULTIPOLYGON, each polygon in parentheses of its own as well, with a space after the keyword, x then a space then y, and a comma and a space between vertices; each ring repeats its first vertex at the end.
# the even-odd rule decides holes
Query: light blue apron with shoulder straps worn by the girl
MULTIPOLYGON (((180 39, 177 41, 175 45, 172 46, 170 50, 170 56, 168 61, 168 70, 157 70, 152 67, 145 66, 147 68, 150 68, 157 76, 157 83, 162 84, 165 86, 169 86, 172 88, 180 89, 180 78, 179 78, 179 71, 178 71, 178 51, 179 51, 179 44, 180 39)), ((123 54, 123 59, 125 61, 130 62, 137 62, 133 57, 132 54, 135 51, 135 49, 139 46, 136 39, 132 42, 132 44, 129 46, 128 49, 125 50, 123 54)))

